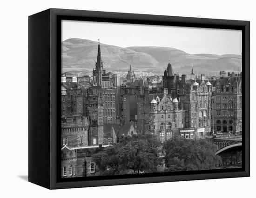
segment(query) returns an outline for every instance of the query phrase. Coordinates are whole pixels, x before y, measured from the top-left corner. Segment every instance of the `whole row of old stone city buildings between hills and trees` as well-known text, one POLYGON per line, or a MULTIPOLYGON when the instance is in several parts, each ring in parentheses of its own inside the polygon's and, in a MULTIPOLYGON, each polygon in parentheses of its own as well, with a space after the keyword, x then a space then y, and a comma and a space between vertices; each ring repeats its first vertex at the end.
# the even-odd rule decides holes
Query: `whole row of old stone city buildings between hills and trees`
POLYGON ((162 80, 136 79, 132 67, 123 81, 106 73, 98 44, 93 80, 88 76, 61 86, 61 176, 96 174, 92 155, 136 133, 164 142, 175 134, 207 138, 242 131, 242 73, 205 79, 175 74, 169 63, 162 80))

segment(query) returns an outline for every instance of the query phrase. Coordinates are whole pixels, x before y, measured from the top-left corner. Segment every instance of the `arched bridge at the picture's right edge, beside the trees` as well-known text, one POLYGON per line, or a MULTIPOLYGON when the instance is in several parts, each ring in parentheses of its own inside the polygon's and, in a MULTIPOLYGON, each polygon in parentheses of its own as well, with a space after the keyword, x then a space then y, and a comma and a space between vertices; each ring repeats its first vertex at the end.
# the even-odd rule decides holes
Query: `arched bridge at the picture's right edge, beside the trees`
POLYGON ((213 141, 216 145, 216 155, 236 146, 242 146, 242 136, 214 134, 213 141))

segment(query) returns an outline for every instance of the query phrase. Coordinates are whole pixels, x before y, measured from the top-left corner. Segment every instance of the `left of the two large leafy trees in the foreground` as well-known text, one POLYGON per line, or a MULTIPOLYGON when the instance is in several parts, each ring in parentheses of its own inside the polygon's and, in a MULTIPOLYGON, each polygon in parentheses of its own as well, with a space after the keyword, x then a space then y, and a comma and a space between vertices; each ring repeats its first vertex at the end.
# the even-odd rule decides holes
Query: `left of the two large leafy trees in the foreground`
POLYGON ((161 164, 158 158, 160 144, 155 135, 132 135, 94 154, 93 160, 100 175, 154 172, 161 164))

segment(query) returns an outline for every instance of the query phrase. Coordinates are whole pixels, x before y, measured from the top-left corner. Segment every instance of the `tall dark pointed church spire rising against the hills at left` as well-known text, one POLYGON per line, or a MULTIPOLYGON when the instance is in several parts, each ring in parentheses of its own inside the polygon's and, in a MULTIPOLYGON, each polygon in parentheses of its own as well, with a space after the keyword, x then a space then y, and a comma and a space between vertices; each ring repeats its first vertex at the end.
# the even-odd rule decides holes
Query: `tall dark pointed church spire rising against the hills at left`
POLYGON ((103 70, 103 62, 101 61, 100 40, 98 41, 99 41, 99 44, 98 44, 97 61, 95 62, 95 70, 93 70, 94 86, 101 86, 102 75, 105 74, 105 70, 103 70))

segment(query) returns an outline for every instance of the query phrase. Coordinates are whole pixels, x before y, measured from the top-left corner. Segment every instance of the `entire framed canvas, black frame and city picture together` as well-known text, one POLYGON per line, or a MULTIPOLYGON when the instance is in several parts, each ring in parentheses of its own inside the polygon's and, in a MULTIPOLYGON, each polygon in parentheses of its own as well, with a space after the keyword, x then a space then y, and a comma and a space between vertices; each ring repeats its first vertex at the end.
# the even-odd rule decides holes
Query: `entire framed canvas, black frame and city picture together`
POLYGON ((249 26, 52 8, 29 16, 29 181, 248 177, 249 26))

